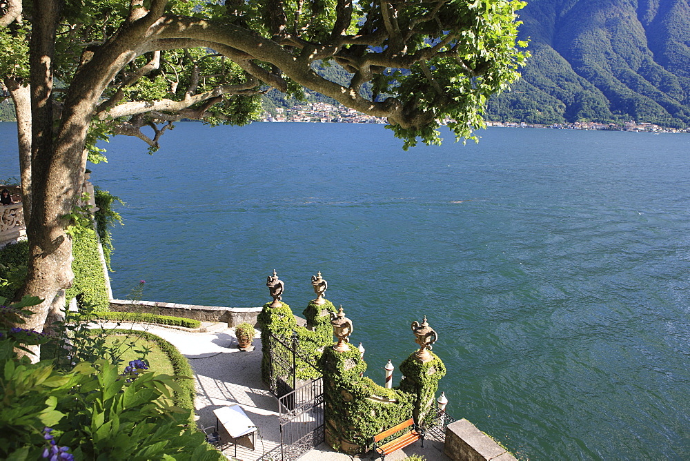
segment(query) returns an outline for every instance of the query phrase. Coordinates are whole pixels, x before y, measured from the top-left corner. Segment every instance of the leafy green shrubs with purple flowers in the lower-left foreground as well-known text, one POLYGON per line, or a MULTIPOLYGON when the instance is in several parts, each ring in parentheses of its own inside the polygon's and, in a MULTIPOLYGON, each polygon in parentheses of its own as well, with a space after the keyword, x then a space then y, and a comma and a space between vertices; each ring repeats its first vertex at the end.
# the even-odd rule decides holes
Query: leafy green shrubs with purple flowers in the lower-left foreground
POLYGON ((14 348, 21 344, 55 340, 8 327, 38 302, 25 297, 0 311, 0 458, 39 459, 52 450, 75 460, 224 459, 189 425, 192 410, 175 404, 175 393, 189 395, 179 378, 148 371, 141 360, 119 374, 117 364, 102 358, 63 362, 61 370, 52 360, 18 357, 14 348))

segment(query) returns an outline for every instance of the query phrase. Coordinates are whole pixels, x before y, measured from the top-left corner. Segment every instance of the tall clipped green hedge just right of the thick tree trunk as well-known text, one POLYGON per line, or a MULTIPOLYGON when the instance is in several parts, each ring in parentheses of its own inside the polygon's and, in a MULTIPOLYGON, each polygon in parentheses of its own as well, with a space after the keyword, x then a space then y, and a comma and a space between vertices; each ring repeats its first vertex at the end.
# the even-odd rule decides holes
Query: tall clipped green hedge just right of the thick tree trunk
POLYGON ((103 264, 99 257, 98 236, 96 233, 82 232, 72 238, 72 271, 75 280, 72 288, 66 291, 66 302, 77 297, 81 306, 92 306, 95 312, 110 311, 110 299, 106 288, 106 276, 103 274, 103 264))

